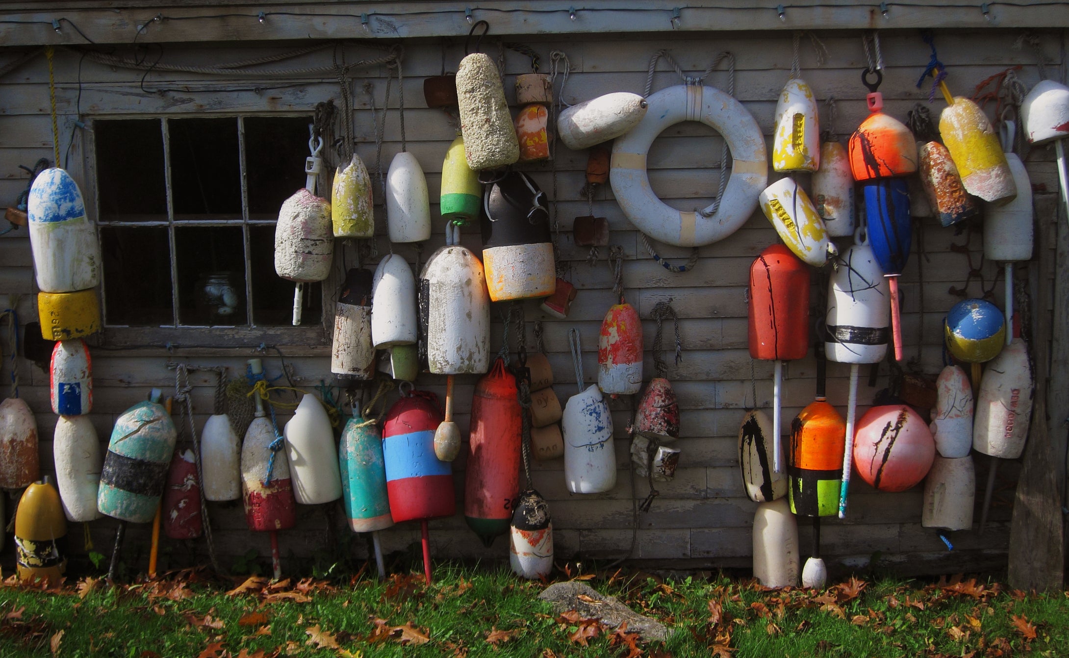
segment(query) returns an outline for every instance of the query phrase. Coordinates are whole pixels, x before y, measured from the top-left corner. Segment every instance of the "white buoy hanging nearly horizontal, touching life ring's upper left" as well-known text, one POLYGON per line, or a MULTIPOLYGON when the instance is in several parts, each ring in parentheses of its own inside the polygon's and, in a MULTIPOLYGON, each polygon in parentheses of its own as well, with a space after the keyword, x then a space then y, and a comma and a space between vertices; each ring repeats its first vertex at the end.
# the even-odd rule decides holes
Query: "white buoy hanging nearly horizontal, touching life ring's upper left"
POLYGON ((557 136, 572 151, 583 151, 631 130, 649 106, 638 94, 615 92, 573 105, 557 119, 557 136))

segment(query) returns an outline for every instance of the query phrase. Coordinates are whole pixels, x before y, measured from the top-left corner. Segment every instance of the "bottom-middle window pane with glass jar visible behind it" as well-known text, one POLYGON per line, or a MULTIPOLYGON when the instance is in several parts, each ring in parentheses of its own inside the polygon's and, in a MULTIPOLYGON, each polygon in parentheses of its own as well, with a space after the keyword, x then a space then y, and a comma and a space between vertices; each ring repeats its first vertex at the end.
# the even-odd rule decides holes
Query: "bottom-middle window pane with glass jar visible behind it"
POLYGON ((182 325, 247 325, 241 226, 174 230, 182 325))

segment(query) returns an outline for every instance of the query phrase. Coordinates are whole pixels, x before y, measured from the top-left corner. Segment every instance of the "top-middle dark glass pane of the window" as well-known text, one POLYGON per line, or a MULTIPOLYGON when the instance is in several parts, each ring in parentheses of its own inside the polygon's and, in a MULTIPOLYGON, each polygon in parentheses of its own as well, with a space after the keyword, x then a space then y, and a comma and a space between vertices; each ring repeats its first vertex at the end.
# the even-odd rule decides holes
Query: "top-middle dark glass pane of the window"
POLYGON ((237 119, 169 119, 174 219, 242 217, 237 119))

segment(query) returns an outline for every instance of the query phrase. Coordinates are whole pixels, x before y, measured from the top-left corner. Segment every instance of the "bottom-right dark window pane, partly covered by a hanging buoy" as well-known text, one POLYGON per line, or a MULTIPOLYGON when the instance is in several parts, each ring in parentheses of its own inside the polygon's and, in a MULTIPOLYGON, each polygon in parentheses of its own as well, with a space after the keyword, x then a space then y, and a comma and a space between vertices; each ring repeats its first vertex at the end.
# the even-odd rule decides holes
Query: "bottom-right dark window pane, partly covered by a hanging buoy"
MULTIPOLYGON (((293 281, 275 273, 275 226, 249 226, 252 248, 252 322, 260 326, 283 326, 293 322, 293 281)), ((323 316, 320 283, 305 285, 301 325, 317 325, 323 316)))

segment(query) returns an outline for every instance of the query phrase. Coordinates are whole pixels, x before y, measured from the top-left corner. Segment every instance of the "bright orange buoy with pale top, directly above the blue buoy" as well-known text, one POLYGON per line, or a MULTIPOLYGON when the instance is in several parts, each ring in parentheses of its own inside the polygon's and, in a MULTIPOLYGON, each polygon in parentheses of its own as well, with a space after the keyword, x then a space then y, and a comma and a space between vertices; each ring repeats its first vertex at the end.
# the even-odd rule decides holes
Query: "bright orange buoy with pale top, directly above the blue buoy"
POLYGON ((913 134, 905 124, 883 113, 883 94, 869 89, 873 90, 865 99, 869 115, 850 136, 850 171, 854 181, 864 183, 912 174, 917 171, 917 143, 913 134))

